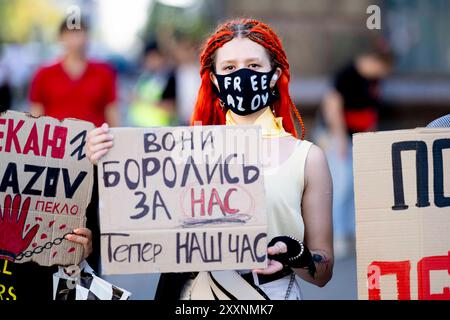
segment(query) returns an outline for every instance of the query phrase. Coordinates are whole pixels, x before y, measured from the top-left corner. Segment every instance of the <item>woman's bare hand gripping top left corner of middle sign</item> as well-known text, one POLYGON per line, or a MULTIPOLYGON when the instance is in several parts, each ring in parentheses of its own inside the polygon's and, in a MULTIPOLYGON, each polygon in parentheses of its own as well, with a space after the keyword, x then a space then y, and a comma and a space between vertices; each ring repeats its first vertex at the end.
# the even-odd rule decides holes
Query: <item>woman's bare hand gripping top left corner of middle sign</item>
POLYGON ((86 142, 86 155, 89 161, 92 164, 97 164, 98 160, 113 146, 113 143, 113 136, 109 133, 107 123, 90 131, 86 142))

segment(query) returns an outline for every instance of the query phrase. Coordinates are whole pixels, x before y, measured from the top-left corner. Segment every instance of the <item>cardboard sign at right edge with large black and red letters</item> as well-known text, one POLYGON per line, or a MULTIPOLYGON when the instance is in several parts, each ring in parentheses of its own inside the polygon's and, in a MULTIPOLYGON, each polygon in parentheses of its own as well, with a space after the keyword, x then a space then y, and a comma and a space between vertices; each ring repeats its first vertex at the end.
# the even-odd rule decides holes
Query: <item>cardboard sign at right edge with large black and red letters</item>
POLYGON ((450 130, 353 144, 359 298, 450 299, 450 130))

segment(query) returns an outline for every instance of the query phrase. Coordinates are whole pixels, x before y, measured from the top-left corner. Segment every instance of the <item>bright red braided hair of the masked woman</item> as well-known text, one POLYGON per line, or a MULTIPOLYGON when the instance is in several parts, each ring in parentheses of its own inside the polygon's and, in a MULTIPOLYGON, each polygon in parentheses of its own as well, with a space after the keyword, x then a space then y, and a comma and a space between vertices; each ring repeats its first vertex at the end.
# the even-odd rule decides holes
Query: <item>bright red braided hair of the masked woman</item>
POLYGON ((295 137, 304 139, 305 126, 303 119, 289 95, 291 74, 289 72, 289 62, 281 41, 268 25, 253 19, 237 19, 225 22, 219 25, 212 36, 204 43, 200 56, 202 82, 198 91, 191 124, 225 124, 225 111, 221 108, 219 98, 213 91, 213 83, 209 75, 214 70, 216 50, 237 37, 246 37, 262 45, 269 53, 274 68, 279 67, 282 70, 281 77, 276 83, 280 99, 273 104, 273 108, 277 116, 283 117, 284 129, 295 137), (300 123, 302 130, 300 136, 295 130, 291 111, 300 123))

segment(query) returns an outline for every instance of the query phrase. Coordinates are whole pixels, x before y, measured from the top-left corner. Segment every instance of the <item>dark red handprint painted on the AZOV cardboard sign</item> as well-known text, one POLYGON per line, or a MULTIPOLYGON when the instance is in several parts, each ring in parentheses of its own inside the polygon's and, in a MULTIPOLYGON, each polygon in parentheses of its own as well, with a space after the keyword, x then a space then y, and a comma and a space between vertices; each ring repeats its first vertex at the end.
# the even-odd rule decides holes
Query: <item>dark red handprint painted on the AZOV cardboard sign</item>
POLYGON ((0 259, 14 261, 18 254, 28 248, 36 236, 39 230, 37 224, 23 236, 30 201, 28 197, 22 203, 22 197, 19 194, 15 195, 13 200, 10 195, 6 195, 3 210, 0 205, 0 259))

